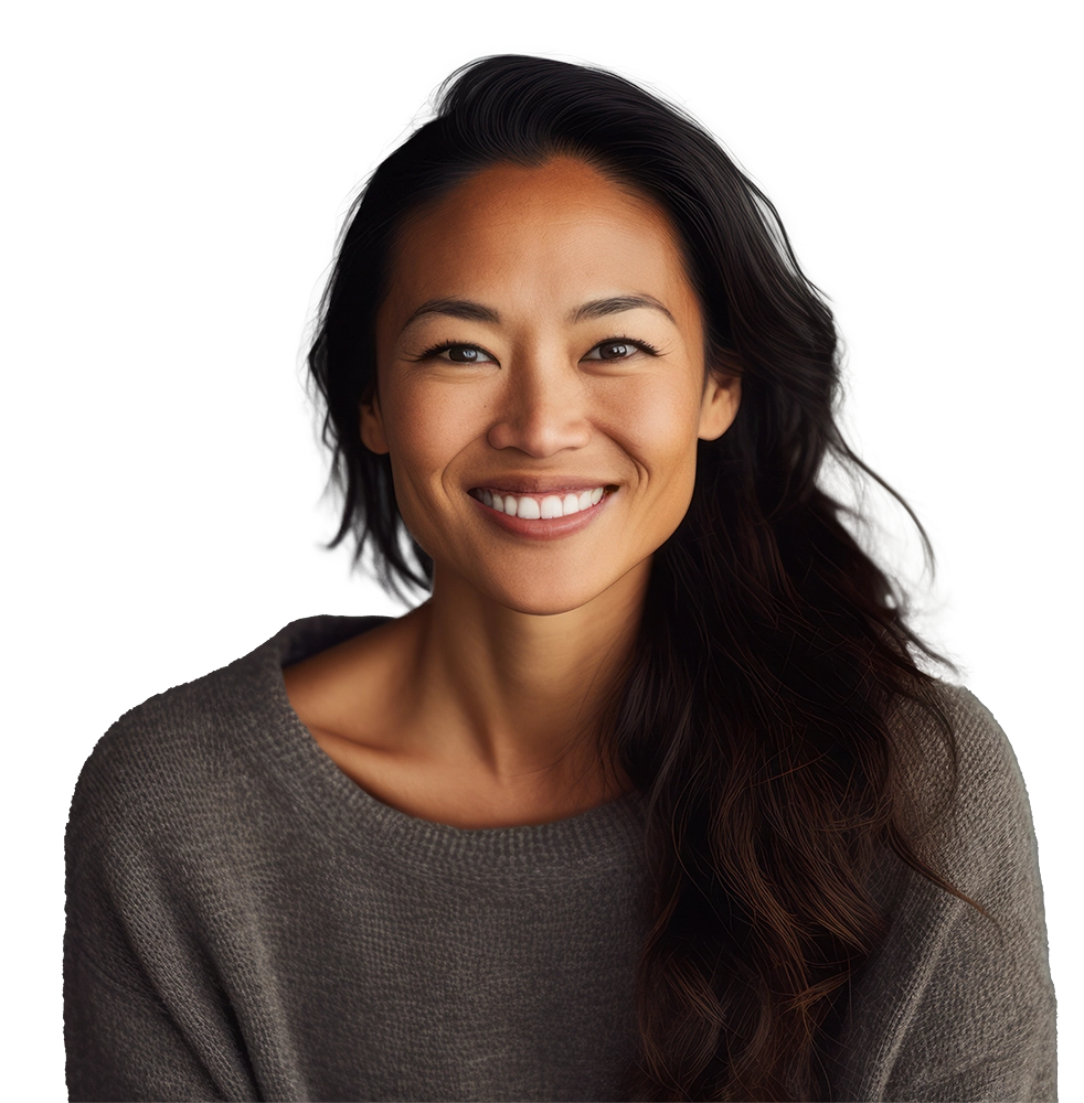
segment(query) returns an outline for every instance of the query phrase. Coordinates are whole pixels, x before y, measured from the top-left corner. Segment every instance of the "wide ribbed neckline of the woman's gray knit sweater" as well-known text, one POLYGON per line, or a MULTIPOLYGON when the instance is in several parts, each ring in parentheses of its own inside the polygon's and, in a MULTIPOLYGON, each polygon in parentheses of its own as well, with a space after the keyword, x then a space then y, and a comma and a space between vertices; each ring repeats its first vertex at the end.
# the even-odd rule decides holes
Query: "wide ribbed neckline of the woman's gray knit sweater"
MULTIPOLYGON (((633 790, 586 812, 545 824, 456 827, 423 820, 378 800, 348 777, 301 722, 286 694, 283 667, 307 655, 386 623, 386 617, 302 617, 249 652, 257 658, 266 700, 275 714, 276 753, 264 761, 290 790, 291 803, 323 832, 370 857, 383 854, 396 864, 428 869, 459 867, 491 870, 625 861, 644 846, 644 801, 633 790)), ((265 732, 266 738, 266 732, 265 732)), ((265 745, 266 749, 266 745, 265 745)))

